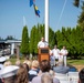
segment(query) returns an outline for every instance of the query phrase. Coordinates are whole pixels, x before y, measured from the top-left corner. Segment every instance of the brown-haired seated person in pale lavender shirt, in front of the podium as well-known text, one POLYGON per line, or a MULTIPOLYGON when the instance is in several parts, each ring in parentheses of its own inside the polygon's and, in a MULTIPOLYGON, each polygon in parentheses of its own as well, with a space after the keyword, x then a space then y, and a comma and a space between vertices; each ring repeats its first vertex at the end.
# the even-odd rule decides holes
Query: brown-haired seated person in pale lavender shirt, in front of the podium
MULTIPOLYGON (((50 73, 50 70, 51 70, 50 62, 48 60, 42 60, 41 63, 40 63, 40 70, 41 70, 42 73, 39 74, 38 76, 33 77, 31 83, 42 83, 41 82, 41 76, 46 72, 50 73)), ((60 83, 60 80, 56 79, 56 77, 53 77, 53 83, 60 83)))

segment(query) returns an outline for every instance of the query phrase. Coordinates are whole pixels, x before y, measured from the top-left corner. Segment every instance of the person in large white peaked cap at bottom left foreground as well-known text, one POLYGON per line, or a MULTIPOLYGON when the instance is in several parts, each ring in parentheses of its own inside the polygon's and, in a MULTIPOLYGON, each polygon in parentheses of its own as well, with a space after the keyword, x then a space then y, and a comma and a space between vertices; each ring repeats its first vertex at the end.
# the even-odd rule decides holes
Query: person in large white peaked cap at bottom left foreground
POLYGON ((15 83, 19 66, 8 65, 0 71, 2 83, 15 83))

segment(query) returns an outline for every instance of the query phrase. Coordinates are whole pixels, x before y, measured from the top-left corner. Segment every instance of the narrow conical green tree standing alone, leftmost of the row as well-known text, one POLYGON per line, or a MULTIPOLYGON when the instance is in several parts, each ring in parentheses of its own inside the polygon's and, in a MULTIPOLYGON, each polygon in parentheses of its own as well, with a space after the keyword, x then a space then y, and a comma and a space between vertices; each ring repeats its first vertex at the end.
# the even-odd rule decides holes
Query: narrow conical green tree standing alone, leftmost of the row
POLYGON ((22 42, 21 42, 21 48, 20 51, 22 54, 27 55, 29 54, 29 33, 28 33, 28 27, 23 27, 22 31, 22 42))

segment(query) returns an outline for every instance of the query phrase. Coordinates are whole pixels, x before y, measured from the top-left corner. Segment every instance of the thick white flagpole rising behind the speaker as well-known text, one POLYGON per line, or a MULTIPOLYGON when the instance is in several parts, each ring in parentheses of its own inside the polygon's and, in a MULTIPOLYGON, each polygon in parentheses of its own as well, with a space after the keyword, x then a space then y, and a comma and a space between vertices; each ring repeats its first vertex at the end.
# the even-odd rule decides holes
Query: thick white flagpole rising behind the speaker
POLYGON ((49 42, 49 0, 45 0, 45 41, 49 42))

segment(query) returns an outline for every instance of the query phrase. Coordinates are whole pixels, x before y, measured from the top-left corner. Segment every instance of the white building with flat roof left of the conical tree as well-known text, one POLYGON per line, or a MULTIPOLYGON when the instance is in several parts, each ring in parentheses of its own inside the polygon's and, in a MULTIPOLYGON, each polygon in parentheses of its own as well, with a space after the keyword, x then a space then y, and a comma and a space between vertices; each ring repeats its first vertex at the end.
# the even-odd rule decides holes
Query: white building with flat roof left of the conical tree
MULTIPOLYGON (((0 41, 0 53, 2 54, 14 54, 17 49, 20 46, 21 40, 2 40, 0 41)), ((19 49, 18 49, 19 50, 19 49)))

